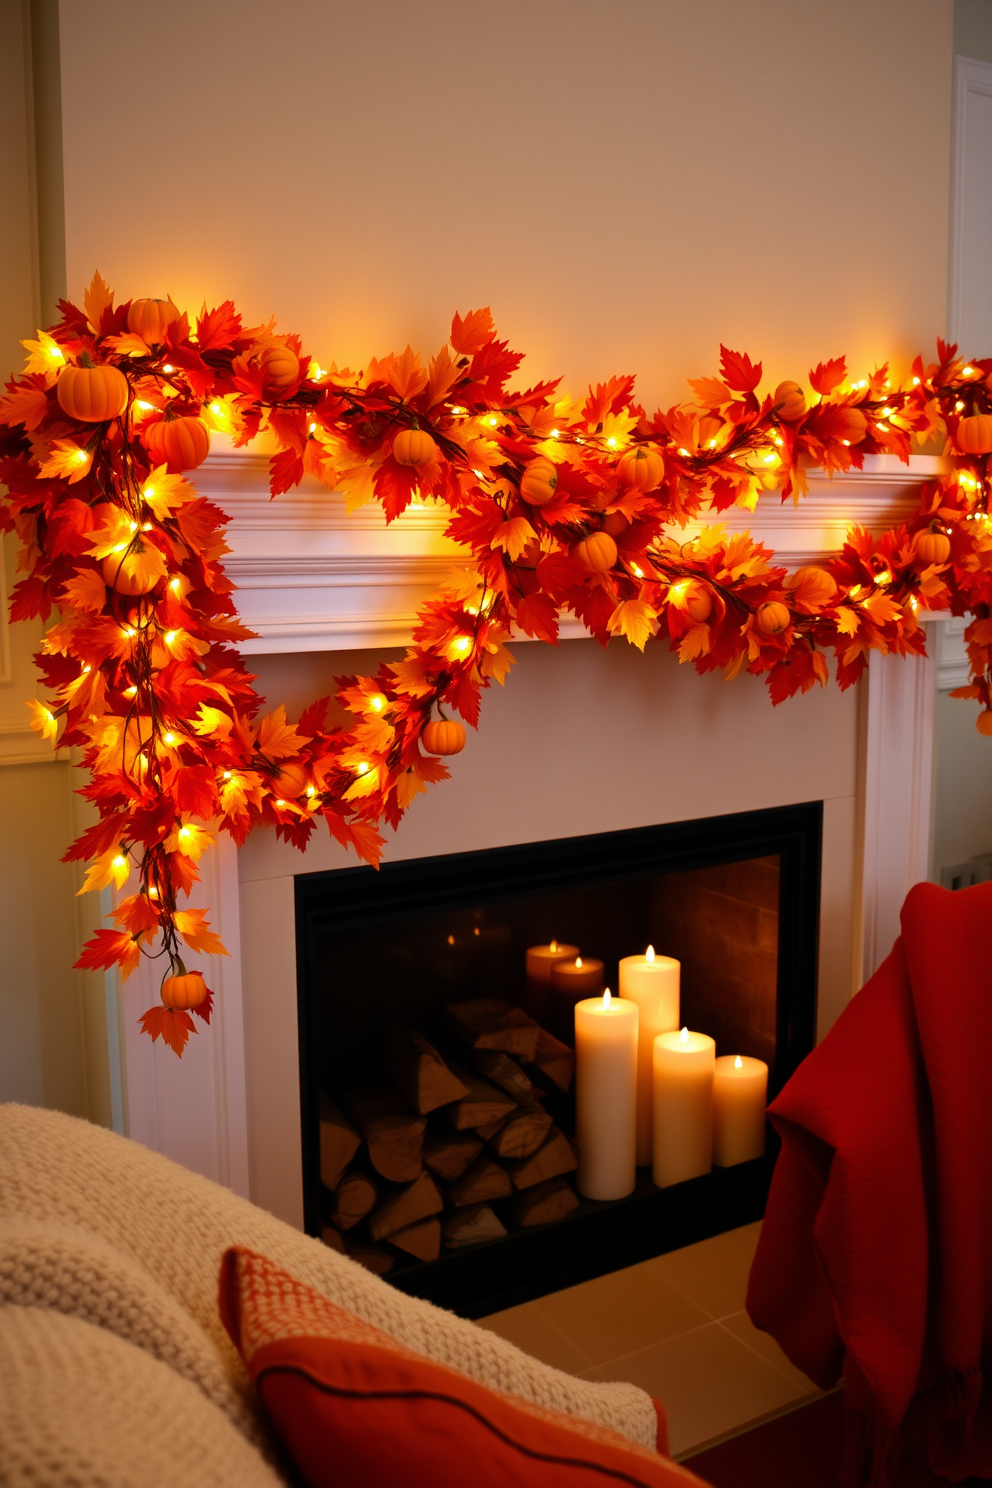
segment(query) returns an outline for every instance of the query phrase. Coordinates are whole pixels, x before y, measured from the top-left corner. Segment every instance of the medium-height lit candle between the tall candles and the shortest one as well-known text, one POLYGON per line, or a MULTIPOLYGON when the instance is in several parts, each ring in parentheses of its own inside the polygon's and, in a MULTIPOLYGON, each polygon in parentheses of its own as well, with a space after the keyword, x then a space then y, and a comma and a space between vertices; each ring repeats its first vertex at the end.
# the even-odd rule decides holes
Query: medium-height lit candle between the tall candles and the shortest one
POLYGON ((659 1189, 712 1167, 712 1073, 717 1046, 705 1033, 654 1040, 654 1159, 659 1189))

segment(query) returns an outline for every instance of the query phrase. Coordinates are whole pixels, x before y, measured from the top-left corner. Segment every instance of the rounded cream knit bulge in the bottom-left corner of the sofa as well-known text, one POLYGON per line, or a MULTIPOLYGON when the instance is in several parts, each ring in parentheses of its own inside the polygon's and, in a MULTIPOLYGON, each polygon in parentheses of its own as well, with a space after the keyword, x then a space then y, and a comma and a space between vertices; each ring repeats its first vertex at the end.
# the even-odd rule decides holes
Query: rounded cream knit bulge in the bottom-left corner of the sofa
POLYGON ((3 1488, 281 1488, 204 1394, 113 1332, 0 1305, 3 1488))

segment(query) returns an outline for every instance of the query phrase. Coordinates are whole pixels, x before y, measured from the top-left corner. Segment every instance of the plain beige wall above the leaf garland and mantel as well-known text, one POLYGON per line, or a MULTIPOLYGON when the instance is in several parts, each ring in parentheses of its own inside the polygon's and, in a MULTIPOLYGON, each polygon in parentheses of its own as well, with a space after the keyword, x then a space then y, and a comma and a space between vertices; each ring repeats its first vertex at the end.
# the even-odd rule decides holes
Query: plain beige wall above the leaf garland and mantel
POLYGON ((672 400, 944 326, 950 0, 62 0, 73 290, 672 400), (916 183, 916 185, 915 185, 916 183), (919 189, 918 189, 919 186, 919 189))

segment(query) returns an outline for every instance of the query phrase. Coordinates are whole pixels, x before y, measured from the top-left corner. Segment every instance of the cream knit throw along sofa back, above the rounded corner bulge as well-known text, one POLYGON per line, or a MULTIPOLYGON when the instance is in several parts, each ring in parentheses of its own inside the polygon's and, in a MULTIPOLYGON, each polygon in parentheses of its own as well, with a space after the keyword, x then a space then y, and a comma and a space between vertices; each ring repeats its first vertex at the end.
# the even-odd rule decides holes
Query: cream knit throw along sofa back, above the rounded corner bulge
POLYGON ((70 1314, 137 1345, 257 1443, 244 1369, 217 1309, 220 1257, 232 1244, 271 1256, 428 1359, 654 1445, 654 1408, 635 1385, 590 1384, 541 1364, 110 1131, 0 1106, 0 1303, 70 1314))

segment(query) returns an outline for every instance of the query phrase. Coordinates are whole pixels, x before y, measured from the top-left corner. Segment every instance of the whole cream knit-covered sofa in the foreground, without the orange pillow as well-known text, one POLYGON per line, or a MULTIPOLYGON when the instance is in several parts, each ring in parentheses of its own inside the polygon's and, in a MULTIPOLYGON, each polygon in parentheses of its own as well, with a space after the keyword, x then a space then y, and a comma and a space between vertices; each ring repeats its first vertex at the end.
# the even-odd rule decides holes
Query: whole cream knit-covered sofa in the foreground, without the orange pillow
MULTIPOLYGON (((0 1106, 0 1484, 293 1482, 219 1312, 232 1245, 408 1348, 653 1448, 650 1396, 590 1384, 390 1287, 198 1174, 85 1120, 0 1106)), ((689 1479, 690 1475, 686 1475, 689 1479)))

